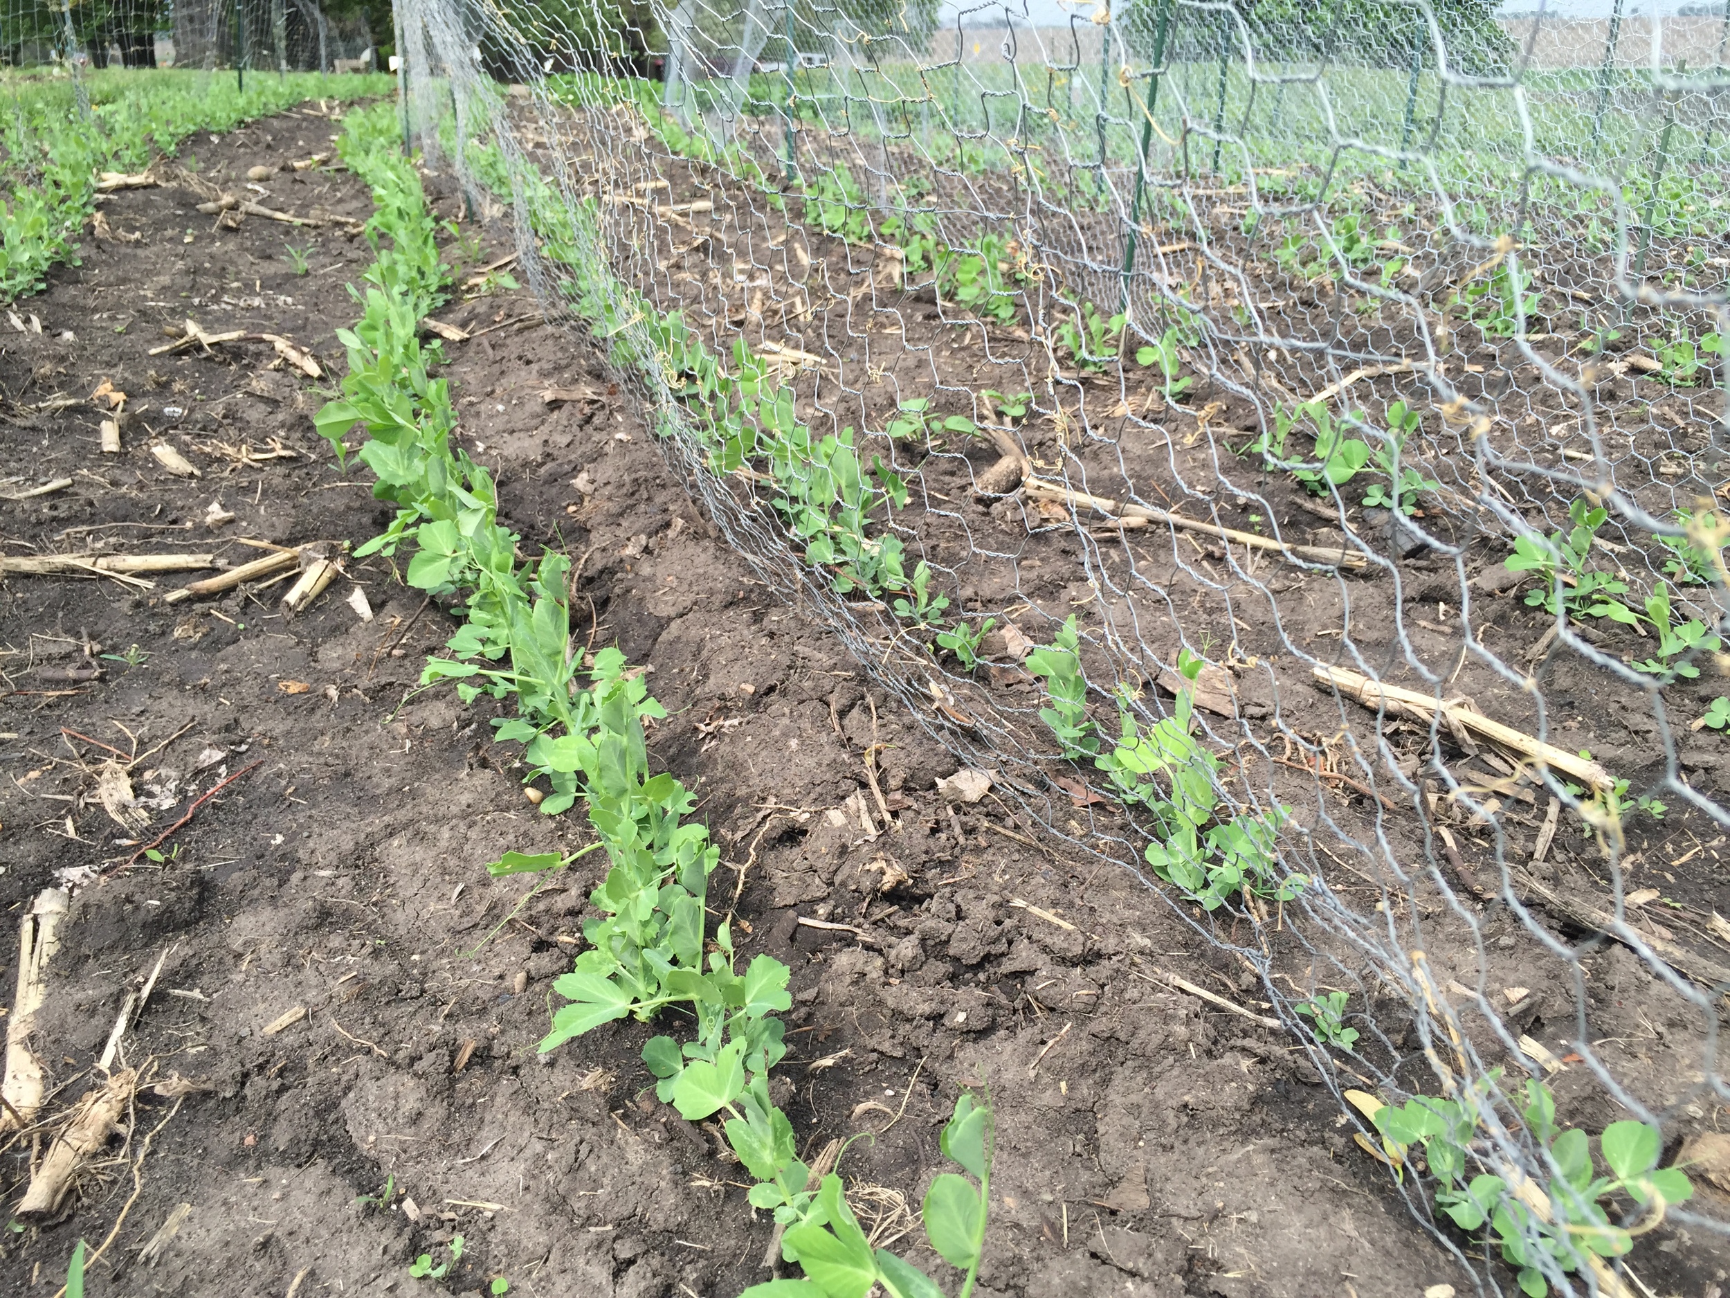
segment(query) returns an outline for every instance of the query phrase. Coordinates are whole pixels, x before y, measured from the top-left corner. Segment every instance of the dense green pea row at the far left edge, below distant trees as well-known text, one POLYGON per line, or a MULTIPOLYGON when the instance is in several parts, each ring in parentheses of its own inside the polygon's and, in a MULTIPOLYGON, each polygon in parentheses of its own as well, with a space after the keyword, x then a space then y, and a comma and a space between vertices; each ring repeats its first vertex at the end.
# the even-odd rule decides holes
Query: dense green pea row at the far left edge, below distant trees
POLYGON ((227 78, 199 73, 99 76, 86 118, 64 81, 14 81, 0 93, 0 301, 40 289, 59 261, 78 265, 78 237, 95 209, 102 171, 138 171, 152 151, 173 152, 194 132, 228 130, 306 99, 375 95, 384 87, 382 78, 296 73, 256 76, 242 93, 227 78))

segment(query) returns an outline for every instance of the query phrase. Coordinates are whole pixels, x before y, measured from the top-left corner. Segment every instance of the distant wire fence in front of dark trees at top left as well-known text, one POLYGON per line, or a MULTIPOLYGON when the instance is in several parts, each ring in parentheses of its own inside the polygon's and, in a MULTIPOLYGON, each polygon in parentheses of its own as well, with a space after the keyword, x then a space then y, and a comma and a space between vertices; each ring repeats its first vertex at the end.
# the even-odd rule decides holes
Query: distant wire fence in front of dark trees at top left
POLYGON ((365 17, 315 0, 0 0, 0 67, 372 71, 365 17))

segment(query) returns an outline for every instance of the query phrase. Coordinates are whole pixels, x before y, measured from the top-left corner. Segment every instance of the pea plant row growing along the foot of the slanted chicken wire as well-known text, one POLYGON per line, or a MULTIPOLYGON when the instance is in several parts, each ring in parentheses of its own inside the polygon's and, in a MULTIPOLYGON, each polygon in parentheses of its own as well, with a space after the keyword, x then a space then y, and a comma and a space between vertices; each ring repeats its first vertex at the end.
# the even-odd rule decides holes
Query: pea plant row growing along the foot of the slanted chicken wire
MULTIPOLYGON (((557 206, 550 192, 541 192, 540 201, 531 202, 531 215, 543 235, 559 227, 555 215, 561 211, 567 209, 557 206)), ((564 228, 583 228, 585 223, 586 237, 597 246, 592 206, 571 213, 571 222, 564 228)), ((571 242, 547 237, 547 249, 571 268, 586 265, 574 254, 571 242)), ((827 571, 841 592, 865 588, 874 595, 882 594, 893 580, 889 573, 901 571, 900 550, 891 545, 893 535, 875 542, 867 537, 863 519, 870 509, 860 505, 875 492, 886 509, 898 507, 905 495, 900 479, 884 476, 887 471, 881 462, 874 462, 868 472, 863 471, 853 452, 849 431, 841 438, 813 443, 810 429, 794 415, 791 391, 770 386, 770 367, 742 339, 734 344, 734 369, 727 372, 678 313, 657 313, 647 301, 628 289, 621 291, 616 284, 611 286, 611 292, 606 291, 607 286, 583 280, 581 275, 576 277, 576 305, 597 332, 612 341, 614 362, 626 369, 635 367, 645 376, 659 376, 692 415, 676 429, 663 412, 657 433, 673 436, 694 429, 704 445, 709 467, 716 472, 751 467, 753 462, 765 466, 778 488, 773 497, 777 511, 794 537, 806 542, 806 562, 827 571), (637 322, 647 322, 647 327, 633 331, 631 325, 637 322), (830 488, 837 481, 837 457, 839 481, 848 486, 832 493, 830 488), (813 509, 813 500, 822 502, 820 507, 813 509), (846 507, 834 509, 837 500, 846 507), (813 545, 813 538, 818 543, 813 545), (893 569, 886 569, 881 562, 886 547, 896 557, 893 569), (848 557, 837 559, 837 556, 848 557), (858 562, 860 556, 874 556, 877 561, 858 562)), ((1401 421, 1401 412, 1394 412, 1391 419, 1396 434, 1410 431, 1401 421)), ((1270 453, 1275 448, 1258 450, 1270 453)), ((1322 459, 1325 472, 1330 457, 1322 459)), ((1422 490, 1422 485, 1401 481, 1398 450, 1387 472, 1405 493, 1422 490)), ((1327 481, 1339 485, 1332 474, 1327 481)), ((929 571, 924 564, 915 571, 908 594, 912 599, 896 601, 894 607, 901 618, 915 623, 929 620, 931 609, 941 611, 946 604, 941 595, 931 594, 929 571)), ((974 647, 984 630, 990 630, 990 623, 971 632, 974 647)), ((939 635, 938 644, 941 642, 939 635)), ((953 649, 948 644, 943 647, 953 649)), ((1154 872, 1208 910, 1237 898, 1247 903, 1249 896, 1287 902, 1311 886, 1306 876, 1287 872, 1278 860, 1277 839, 1291 817, 1291 808, 1277 805, 1261 813, 1232 813, 1221 796, 1221 761, 1192 734, 1192 685, 1201 671, 1201 659, 1180 651, 1178 673, 1185 687, 1178 691, 1171 713, 1152 725, 1138 720, 1131 696, 1114 696, 1118 734, 1111 737, 1093 715, 1092 696, 1097 691, 1088 684, 1081 652, 1081 632, 1071 616, 1052 644, 1028 654, 1028 670, 1045 685, 1047 706, 1040 710, 1040 716, 1057 739, 1062 756, 1102 770, 1109 791, 1149 829, 1152 841, 1145 848, 1145 858, 1154 872)), ((957 651, 957 658, 964 668, 974 666, 971 656, 957 651)), ((711 955, 711 962, 720 964, 720 955, 711 955)), ((749 986, 749 969, 746 978, 749 986)), ((606 1012, 606 988, 585 985, 571 990, 580 993, 578 1004, 567 1007, 573 1016, 595 1018, 606 1012)), ((746 990, 740 995, 749 1006, 751 992, 746 990)), ((1344 997, 1339 1000, 1344 1002, 1344 997)), ((1342 1004, 1336 1007, 1336 1016, 1339 1009, 1342 1004)), ((723 1012, 711 1011, 709 1026, 702 1030, 706 1035, 716 1033, 713 1016, 723 1012)), ((1317 1014, 1315 1002, 1310 1002, 1308 1012, 1317 1014)), ((1317 1035, 1325 1045, 1348 1052, 1356 1040, 1356 1031, 1339 1031, 1337 1025, 1334 1031, 1322 1031, 1320 1019, 1317 1035)), ((749 1052, 749 1037, 744 1045, 749 1052)), ((656 1038, 645 1057, 652 1071, 663 1078, 663 1094, 673 1096, 676 1102, 678 1078, 690 1070, 685 1066, 675 1071, 680 1068, 680 1054, 673 1042, 656 1038), (659 1057, 650 1057, 650 1052, 659 1057)), ((702 1078, 708 1085, 706 1073, 702 1078)), ((1564 1132, 1554 1123, 1554 1101, 1541 1083, 1528 1085, 1528 1094, 1521 1101, 1509 1099, 1500 1087, 1500 1075, 1481 1078, 1474 1087, 1469 1096, 1462 1094, 1457 1099, 1417 1096, 1403 1108, 1386 1106, 1368 1096, 1355 1096, 1355 1104, 1382 1135, 1384 1160, 1400 1175, 1412 1163, 1408 1149, 1424 1146, 1438 1211, 1462 1231, 1483 1231, 1486 1241, 1498 1246, 1503 1260, 1517 1270, 1517 1282, 1524 1293, 1541 1295, 1547 1277, 1559 1279, 1560 1274, 1585 1265, 1586 1253, 1618 1256, 1630 1250, 1635 1232, 1611 1225, 1605 1203, 1614 1203, 1618 1196, 1631 1198, 1654 1213, 1647 1222, 1652 1225, 1663 1218, 1668 1203, 1680 1203, 1692 1194, 1683 1173, 1657 1168, 1661 1141, 1656 1127, 1623 1121, 1607 1128, 1602 1135, 1602 1161, 1611 1175, 1595 1179, 1585 1134, 1564 1132), (1548 1198, 1555 1205, 1550 1218, 1536 1217, 1519 1199, 1512 1182, 1498 1175, 1502 1168, 1470 1173, 1474 1161, 1481 1165, 1484 1161, 1476 1153, 1479 1144, 1472 1139, 1476 1127, 1505 1121, 1510 1113, 1514 1123, 1524 1127, 1560 1166, 1560 1173, 1550 1184, 1548 1198)), ((787 1189, 784 1186, 780 1192, 787 1189)), ((772 1196, 773 1191, 765 1191, 765 1199, 772 1196)))

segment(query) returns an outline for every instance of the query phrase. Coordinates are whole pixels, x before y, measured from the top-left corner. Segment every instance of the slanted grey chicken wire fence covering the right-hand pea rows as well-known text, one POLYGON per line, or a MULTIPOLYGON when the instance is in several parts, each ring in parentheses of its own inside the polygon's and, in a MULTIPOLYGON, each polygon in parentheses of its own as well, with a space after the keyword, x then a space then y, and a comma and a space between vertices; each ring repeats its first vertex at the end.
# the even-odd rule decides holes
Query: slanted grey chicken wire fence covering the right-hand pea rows
POLYGON ((1725 21, 398 9, 758 575, 1253 971, 1481 1289, 1618 1295, 1727 1231, 1547 1109, 1727 1101, 1725 21))

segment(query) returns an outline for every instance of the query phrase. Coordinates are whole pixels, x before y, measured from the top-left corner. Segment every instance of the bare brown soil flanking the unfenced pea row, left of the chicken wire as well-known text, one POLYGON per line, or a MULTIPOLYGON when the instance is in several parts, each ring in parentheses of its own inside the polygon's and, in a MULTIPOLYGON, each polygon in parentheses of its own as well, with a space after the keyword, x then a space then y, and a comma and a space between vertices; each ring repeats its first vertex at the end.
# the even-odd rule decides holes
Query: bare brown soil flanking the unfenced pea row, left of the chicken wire
MULTIPOLYGON (((327 147, 332 130, 285 116, 190 152, 199 177, 235 185, 249 166, 327 147)), ((429 185, 453 215, 443 178, 429 185)), ((367 211, 341 171, 266 187, 287 211, 367 211)), ((313 433, 330 379, 272 369, 268 344, 147 355, 166 341, 161 324, 194 315, 211 332, 287 334, 339 372, 334 331, 355 315, 346 284, 368 249, 320 227, 310 273, 296 275, 282 242, 306 232, 256 218, 209 230, 195 201, 163 187, 106 202, 109 227, 140 239, 86 246, 81 267, 22 305, 43 332, 0 334, 7 472, 19 486, 73 478, 3 505, 9 554, 209 549, 240 562, 258 554, 240 537, 353 547, 388 521, 313 433), (97 450, 102 407, 54 403, 104 379, 131 395, 118 457, 97 450), (149 452, 157 438, 202 476, 166 472, 149 452), (235 519, 213 531, 215 500, 235 519)), ((500 234, 484 234, 476 265, 507 251, 500 234)), ((723 845, 716 903, 734 907, 747 954, 794 969, 780 1101, 808 1147, 865 1137, 843 1172, 879 1243, 941 1274, 908 1210, 939 1168, 958 1087, 984 1085, 998 1165, 981 1293, 1472 1288, 1477 1248, 1458 1236, 1445 1248, 1419 1225, 1351 1144, 1308 1056, 1164 980, 1265 1012, 1258 980, 1187 910, 1043 834, 1014 800, 950 813, 934 781, 955 756, 716 537, 590 343, 541 325, 528 294, 441 318, 500 325, 448 346, 467 445, 497 469, 526 552, 581 557, 578 633, 652 671, 670 711, 654 758, 695 789, 723 845), (592 396, 548 405, 550 386, 592 396), (865 779, 872 744, 886 746, 887 827, 865 779)), ((962 507, 1003 545, 1043 547, 1054 571, 1040 599, 1074 597, 1080 569, 1057 575, 1059 559, 1076 561, 1066 542, 988 509, 962 507)), ((21 917, 42 888, 78 884, 35 1033, 52 1101, 42 1128, 0 1153, 9 1201, 55 1121, 100 1082, 126 992, 163 961, 121 1044, 118 1066, 140 1070, 126 1134, 57 1218, 3 1237, 0 1293, 57 1284, 78 1237, 111 1239, 97 1295, 476 1293, 505 1276, 512 1293, 730 1298, 766 1279, 770 1224, 753 1218, 714 1134, 654 1101, 638 1061, 647 1025, 535 1052, 599 867, 585 858, 521 910, 521 881, 488 881, 481 865, 500 851, 578 846, 586 829, 524 800, 488 706, 415 692, 452 618, 384 559, 349 561, 294 620, 282 585, 166 604, 183 580, 0 585, 0 903, 21 917), (355 588, 372 621, 348 604, 355 588), (100 678, 76 678, 90 668, 100 678), (140 800, 114 815, 97 798, 111 760, 140 800), (133 860, 237 774, 163 862, 133 860), (147 820, 121 824, 128 812, 147 820), (388 1206, 363 1201, 386 1187, 388 1206), (413 1256, 443 1258, 436 1246, 455 1234, 462 1263, 441 1282, 410 1279, 413 1256)), ((1221 639, 1232 625, 1220 621, 1221 639)), ((1256 678, 1240 680, 1246 706, 1263 701, 1256 678)), ((1334 727, 1317 713, 1308 729, 1334 727)), ((1362 812, 1348 789, 1329 798, 1317 813, 1362 812)), ((1090 824, 1097 813, 1076 808, 1090 824)), ((1695 905, 1709 902, 1702 891, 1695 905)), ((1496 976, 1547 993, 1529 1030, 1555 1016, 1569 1031, 1571 966, 1502 945, 1517 931, 1505 907, 1479 907, 1477 928, 1443 922, 1439 973, 1450 952, 1464 967, 1488 945, 1496 976)), ((1593 950, 1595 1021, 1626 1042, 1609 1049, 1644 1059, 1652 1089, 1687 1090, 1663 1042, 1673 997, 1621 948, 1593 950)), ((1585 1070, 1559 1087, 1569 1080, 1581 1102, 1597 1096, 1585 1070)), ((1649 1243, 1666 1293, 1704 1291, 1720 1265, 1668 1225, 1649 1243)))

